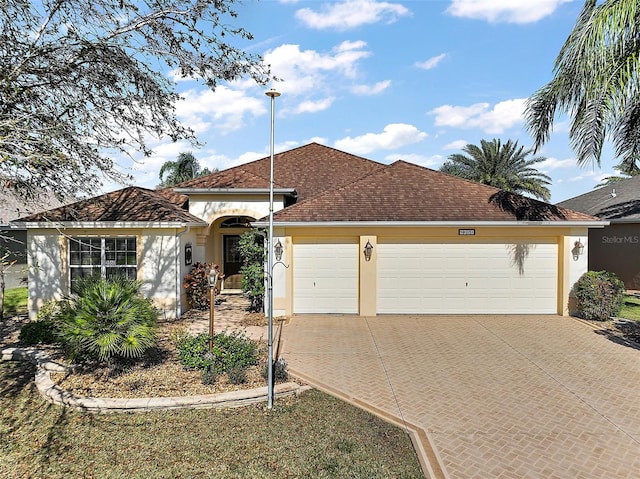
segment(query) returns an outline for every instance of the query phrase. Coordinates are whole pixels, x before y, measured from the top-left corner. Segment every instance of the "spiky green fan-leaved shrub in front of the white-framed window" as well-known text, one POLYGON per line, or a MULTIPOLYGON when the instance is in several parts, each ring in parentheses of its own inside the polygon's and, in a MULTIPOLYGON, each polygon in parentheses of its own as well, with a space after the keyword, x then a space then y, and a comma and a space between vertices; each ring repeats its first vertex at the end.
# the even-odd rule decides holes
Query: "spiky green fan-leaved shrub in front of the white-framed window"
POLYGON ((156 342, 158 311, 126 278, 78 281, 59 314, 60 339, 72 359, 139 358, 156 342))

